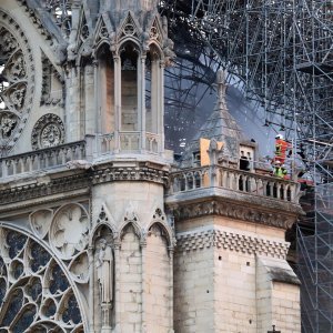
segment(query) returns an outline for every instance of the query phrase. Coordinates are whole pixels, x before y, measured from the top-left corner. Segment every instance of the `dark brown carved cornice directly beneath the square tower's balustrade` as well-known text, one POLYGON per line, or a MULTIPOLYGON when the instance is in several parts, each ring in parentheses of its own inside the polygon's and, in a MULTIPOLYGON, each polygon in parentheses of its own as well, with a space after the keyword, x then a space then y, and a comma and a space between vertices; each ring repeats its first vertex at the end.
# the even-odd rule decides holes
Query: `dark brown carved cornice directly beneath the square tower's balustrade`
POLYGON ((232 203, 229 201, 209 200, 199 203, 190 203, 176 208, 171 208, 175 221, 194 219, 206 215, 220 215, 231 219, 290 229, 295 222, 294 216, 281 212, 266 212, 262 208, 246 206, 243 203, 232 203))

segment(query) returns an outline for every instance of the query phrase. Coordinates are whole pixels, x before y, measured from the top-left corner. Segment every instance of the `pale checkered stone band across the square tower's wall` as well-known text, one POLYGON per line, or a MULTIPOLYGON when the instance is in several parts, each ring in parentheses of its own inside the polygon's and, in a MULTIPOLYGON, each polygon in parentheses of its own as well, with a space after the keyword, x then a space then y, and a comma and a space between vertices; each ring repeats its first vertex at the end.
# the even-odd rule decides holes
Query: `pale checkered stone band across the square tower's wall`
POLYGON ((194 231, 176 235, 176 252, 210 248, 285 259, 289 243, 221 230, 194 231))

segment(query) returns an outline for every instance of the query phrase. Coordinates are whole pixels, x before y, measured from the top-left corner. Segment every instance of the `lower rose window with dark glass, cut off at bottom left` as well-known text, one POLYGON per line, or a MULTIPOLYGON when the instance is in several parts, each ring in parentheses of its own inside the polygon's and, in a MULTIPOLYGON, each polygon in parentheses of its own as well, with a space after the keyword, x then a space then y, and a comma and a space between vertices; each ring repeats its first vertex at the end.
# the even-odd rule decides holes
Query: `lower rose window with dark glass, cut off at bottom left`
POLYGON ((83 332, 63 269, 34 239, 0 229, 0 332, 83 332))

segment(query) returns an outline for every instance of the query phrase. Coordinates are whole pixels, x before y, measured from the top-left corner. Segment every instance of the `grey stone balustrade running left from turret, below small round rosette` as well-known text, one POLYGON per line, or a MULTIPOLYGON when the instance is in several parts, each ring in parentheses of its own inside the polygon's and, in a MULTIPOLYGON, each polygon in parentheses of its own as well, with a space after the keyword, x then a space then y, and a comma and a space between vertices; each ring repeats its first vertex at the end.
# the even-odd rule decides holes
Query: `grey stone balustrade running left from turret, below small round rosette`
POLYGON ((0 179, 65 165, 85 158, 85 141, 46 148, 0 159, 0 179))

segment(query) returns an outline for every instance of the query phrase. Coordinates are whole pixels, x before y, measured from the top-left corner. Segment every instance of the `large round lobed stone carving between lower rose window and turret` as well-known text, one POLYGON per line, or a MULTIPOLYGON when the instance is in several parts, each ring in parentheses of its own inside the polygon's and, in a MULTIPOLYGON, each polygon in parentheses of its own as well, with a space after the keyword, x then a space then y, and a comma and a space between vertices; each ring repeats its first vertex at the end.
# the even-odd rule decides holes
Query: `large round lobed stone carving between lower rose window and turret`
POLYGON ((88 243, 89 219, 79 204, 60 209, 52 221, 50 239, 54 250, 62 259, 70 259, 88 243))

